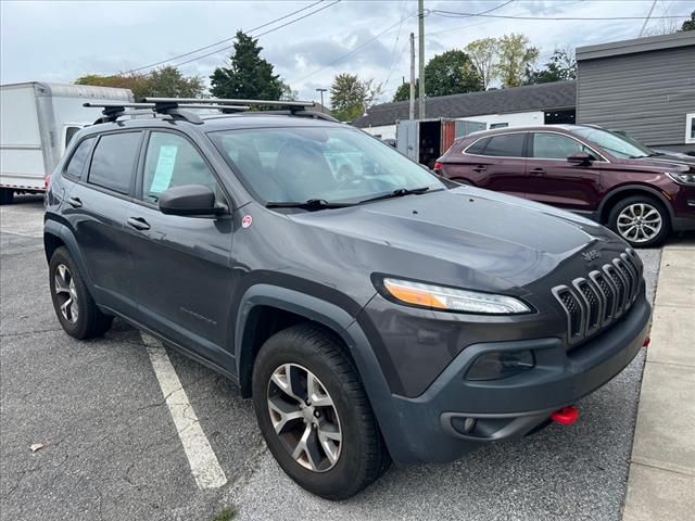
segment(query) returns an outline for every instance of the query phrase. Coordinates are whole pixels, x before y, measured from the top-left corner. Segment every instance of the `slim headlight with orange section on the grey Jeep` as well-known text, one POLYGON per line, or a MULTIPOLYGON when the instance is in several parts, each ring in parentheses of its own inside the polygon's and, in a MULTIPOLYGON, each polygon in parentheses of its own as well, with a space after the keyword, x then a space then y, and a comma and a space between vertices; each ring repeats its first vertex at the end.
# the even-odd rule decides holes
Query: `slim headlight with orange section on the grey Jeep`
POLYGON ((480 293, 410 280, 384 278, 382 291, 392 300, 429 309, 478 313, 483 315, 517 315, 531 313, 523 302, 507 295, 480 293))

